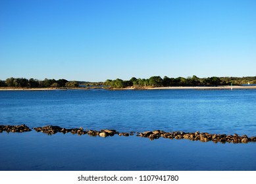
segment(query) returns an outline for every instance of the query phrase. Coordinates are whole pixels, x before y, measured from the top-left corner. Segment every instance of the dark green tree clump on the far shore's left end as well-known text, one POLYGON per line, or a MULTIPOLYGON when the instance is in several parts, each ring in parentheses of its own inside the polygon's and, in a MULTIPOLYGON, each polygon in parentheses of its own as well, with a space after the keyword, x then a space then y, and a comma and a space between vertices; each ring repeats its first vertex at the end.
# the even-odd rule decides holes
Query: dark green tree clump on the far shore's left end
POLYGON ((7 78, 5 81, 0 80, 0 87, 29 87, 29 88, 40 88, 40 87, 78 87, 77 81, 68 81, 64 79, 47 79, 36 80, 34 78, 7 78))

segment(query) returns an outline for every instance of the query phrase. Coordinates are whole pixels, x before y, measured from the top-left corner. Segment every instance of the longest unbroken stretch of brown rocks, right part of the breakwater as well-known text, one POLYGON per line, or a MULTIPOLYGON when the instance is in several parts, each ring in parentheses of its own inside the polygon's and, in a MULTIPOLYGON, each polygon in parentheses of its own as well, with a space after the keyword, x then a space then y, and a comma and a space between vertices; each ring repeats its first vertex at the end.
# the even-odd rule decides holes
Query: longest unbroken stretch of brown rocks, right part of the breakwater
POLYGON ((256 142, 256 137, 247 137, 247 135, 239 136, 238 134, 226 135, 226 134, 210 134, 210 133, 200 133, 196 131, 195 133, 186 133, 184 131, 173 131, 165 132, 161 130, 155 131, 145 131, 140 133, 140 137, 148 137, 149 139, 159 139, 163 137, 166 139, 190 139, 192 141, 208 142, 213 141, 215 143, 249 143, 256 142))

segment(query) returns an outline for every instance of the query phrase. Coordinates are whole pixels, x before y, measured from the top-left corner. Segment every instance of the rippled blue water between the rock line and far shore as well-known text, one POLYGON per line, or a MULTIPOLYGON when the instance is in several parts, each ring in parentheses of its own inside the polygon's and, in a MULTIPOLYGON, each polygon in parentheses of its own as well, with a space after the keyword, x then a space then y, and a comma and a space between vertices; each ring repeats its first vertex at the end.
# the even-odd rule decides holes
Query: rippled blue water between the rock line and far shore
POLYGON ((0 91, 0 124, 256 134, 255 90, 0 91))

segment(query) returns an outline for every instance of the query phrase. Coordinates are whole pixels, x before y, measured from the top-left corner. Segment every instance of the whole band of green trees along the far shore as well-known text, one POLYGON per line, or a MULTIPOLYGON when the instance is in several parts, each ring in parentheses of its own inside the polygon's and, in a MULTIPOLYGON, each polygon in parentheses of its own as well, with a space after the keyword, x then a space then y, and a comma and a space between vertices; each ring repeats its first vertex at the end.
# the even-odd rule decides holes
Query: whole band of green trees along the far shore
POLYGON ((103 82, 89 82, 89 81, 68 81, 64 79, 54 80, 36 80, 30 78, 8 78, 5 81, 0 80, 0 87, 28 87, 28 88, 76 88, 76 87, 107 87, 107 88, 125 88, 134 87, 135 89, 143 89, 146 87, 168 87, 168 86, 217 86, 217 85, 242 85, 242 84, 255 84, 255 77, 211 77, 211 78, 197 78, 192 76, 188 78, 168 78, 165 76, 152 76, 149 79, 131 78, 130 80, 106 80, 103 82))

